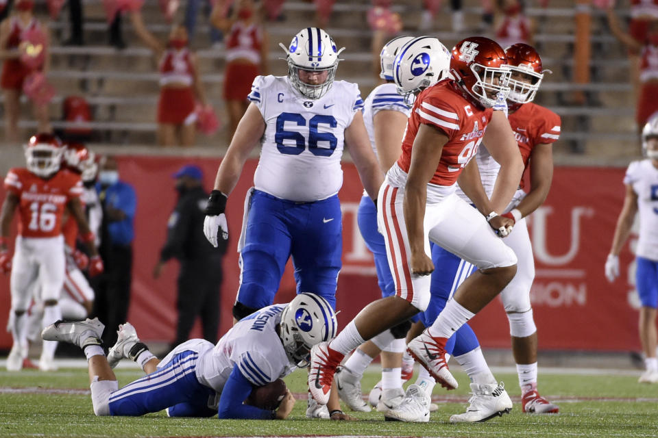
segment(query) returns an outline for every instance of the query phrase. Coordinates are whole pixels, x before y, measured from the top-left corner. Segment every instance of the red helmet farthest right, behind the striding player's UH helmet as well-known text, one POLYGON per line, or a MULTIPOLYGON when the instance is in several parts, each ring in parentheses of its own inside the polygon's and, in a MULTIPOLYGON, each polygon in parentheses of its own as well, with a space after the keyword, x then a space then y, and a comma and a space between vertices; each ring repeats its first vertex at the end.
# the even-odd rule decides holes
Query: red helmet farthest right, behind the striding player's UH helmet
POLYGON ((505 49, 505 55, 511 70, 507 100, 519 104, 532 102, 544 78, 539 53, 534 47, 517 42, 505 49))

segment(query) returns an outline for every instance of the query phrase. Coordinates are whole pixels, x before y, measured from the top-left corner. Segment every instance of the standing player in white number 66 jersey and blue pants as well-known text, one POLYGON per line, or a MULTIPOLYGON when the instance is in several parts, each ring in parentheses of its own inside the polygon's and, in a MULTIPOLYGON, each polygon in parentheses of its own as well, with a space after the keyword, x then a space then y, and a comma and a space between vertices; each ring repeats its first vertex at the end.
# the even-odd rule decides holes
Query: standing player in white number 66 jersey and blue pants
POLYGON ((204 233, 217 246, 218 239, 228 237, 228 196, 260 144, 238 244, 236 320, 273 302, 291 256, 297 292, 313 290, 334 307, 342 252, 337 193, 343 184, 343 147, 371 199, 376 200, 383 181, 363 125, 358 86, 334 81, 343 49, 317 27, 302 29, 289 47, 281 46, 289 74, 254 79, 251 103, 219 166, 206 209, 204 233))

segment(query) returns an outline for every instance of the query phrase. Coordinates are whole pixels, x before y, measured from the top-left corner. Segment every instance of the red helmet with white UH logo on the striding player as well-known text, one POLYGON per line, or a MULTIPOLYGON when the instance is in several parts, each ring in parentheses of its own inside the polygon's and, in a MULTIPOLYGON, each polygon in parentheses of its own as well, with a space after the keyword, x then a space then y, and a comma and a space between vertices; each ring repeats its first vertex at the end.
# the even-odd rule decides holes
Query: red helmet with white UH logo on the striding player
POLYGON ((510 70, 505 51, 494 40, 473 36, 452 48, 450 73, 467 94, 484 107, 493 107, 500 93, 507 96, 510 70))

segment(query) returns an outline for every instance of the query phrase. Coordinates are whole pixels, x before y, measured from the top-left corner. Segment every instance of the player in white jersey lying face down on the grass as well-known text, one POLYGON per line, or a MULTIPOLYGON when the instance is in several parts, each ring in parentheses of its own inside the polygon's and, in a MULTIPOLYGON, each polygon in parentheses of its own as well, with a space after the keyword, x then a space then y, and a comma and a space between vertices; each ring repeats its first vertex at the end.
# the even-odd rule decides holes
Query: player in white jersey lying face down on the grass
POLYGON ((295 399, 288 392, 275 411, 243 404, 252 389, 306 366, 310 348, 337 330, 329 303, 315 294, 299 294, 288 305, 265 307, 243 318, 216 346, 191 339, 158 361, 139 341, 132 325, 119 328, 108 357, 101 348, 103 324, 97 320, 58 321, 43 339, 80 346, 87 357, 91 400, 96 415, 138 416, 167 409, 170 417, 284 419, 295 399), (147 376, 119 389, 112 367, 133 359, 147 376))

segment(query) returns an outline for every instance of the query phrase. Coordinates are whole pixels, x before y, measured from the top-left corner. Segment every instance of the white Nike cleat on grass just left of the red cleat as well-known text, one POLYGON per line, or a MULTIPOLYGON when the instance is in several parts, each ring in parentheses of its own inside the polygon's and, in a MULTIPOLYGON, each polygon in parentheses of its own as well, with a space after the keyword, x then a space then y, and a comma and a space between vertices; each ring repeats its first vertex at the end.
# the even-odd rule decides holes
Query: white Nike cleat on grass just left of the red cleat
POLYGON ((451 423, 475 423, 485 422, 496 415, 501 416, 512 410, 510 400, 504 383, 491 383, 489 385, 478 385, 471 383, 471 394, 465 413, 450 416, 451 423))

